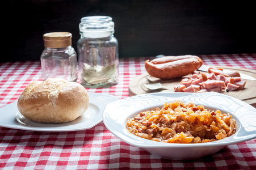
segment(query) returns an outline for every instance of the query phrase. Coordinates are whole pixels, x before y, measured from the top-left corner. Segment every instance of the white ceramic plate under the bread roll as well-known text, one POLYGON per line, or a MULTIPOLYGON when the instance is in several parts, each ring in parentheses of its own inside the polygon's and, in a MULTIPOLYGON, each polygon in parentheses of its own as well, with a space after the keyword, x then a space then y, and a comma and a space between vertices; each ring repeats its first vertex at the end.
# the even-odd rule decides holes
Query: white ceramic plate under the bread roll
POLYGON ((88 94, 90 97, 89 108, 82 116, 73 121, 62 124, 48 124, 28 120, 19 113, 17 101, 15 101, 0 108, 0 126, 33 131, 75 131, 93 128, 102 121, 102 114, 106 105, 118 99, 111 95, 90 92, 88 94))

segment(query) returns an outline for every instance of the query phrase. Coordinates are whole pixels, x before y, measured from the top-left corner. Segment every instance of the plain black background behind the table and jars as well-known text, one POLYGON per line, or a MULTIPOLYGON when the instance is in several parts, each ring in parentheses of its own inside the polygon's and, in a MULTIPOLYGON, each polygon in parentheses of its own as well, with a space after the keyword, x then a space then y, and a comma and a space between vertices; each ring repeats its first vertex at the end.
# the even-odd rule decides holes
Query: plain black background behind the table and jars
MULTIPOLYGON (((253 1, 251 1, 253 2, 253 1)), ((115 22, 119 57, 256 53, 254 5, 248 1, 11 0, 2 5, 0 62, 40 60, 43 34, 72 33, 77 51, 84 16, 115 22)))

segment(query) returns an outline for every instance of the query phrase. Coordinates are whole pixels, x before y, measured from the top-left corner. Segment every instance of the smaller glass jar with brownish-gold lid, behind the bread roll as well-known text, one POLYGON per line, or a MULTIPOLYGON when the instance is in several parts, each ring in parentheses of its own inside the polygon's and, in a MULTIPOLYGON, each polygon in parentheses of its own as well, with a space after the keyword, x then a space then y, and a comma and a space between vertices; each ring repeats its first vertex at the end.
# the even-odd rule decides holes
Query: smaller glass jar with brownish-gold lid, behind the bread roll
POLYGON ((44 51, 41 54, 43 80, 64 78, 77 82, 77 53, 71 46, 72 34, 69 32, 45 33, 44 51))

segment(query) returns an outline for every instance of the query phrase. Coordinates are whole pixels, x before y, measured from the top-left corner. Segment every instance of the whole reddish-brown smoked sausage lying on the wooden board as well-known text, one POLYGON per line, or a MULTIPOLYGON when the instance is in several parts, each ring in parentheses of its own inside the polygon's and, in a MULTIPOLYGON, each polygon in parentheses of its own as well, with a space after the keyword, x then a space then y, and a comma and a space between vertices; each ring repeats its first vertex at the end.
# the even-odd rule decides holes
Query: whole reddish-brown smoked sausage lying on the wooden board
POLYGON ((193 73, 203 65, 198 56, 166 56, 145 61, 145 69, 149 75, 160 79, 179 78, 193 73))

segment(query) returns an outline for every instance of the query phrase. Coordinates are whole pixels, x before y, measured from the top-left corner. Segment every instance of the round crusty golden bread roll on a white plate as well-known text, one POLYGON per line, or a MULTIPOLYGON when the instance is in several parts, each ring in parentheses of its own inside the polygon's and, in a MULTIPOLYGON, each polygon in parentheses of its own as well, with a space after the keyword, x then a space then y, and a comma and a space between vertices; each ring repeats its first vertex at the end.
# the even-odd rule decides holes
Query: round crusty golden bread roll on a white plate
POLYGON ((45 123, 75 120, 89 107, 89 95, 79 83, 61 78, 35 81, 18 99, 18 110, 26 118, 45 123))

